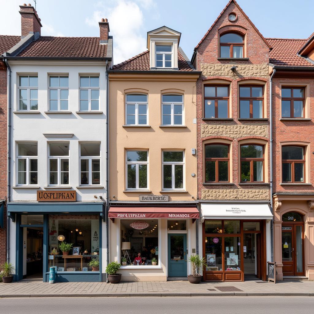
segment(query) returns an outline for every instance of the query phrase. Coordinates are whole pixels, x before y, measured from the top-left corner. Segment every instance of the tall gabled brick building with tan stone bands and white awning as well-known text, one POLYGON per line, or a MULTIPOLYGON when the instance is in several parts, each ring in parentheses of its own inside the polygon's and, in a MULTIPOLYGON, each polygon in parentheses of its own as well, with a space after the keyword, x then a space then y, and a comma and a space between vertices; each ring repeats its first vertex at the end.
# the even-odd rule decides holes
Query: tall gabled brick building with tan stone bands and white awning
POLYGON ((271 259, 269 50, 231 0, 196 46, 199 251, 205 280, 266 279, 271 259))

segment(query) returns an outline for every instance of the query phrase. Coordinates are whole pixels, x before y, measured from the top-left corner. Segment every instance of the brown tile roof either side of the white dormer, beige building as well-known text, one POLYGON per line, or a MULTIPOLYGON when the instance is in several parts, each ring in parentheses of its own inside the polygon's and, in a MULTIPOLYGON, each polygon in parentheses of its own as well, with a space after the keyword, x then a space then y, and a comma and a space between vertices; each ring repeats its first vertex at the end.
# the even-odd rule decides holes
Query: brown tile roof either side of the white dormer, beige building
MULTIPOLYGON (((179 71, 195 71, 187 63, 180 50, 178 50, 178 68, 179 71)), ((136 55, 135 57, 132 57, 122 63, 116 64, 113 66, 112 69, 121 71, 149 71, 149 51, 146 50, 136 55)))

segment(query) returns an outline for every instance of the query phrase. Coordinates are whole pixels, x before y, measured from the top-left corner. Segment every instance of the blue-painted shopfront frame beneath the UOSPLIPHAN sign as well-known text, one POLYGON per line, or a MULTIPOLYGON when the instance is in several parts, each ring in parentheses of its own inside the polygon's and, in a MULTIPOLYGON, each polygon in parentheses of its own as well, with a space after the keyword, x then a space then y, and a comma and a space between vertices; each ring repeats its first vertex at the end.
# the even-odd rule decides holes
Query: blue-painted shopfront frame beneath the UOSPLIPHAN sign
MULTIPOLYGON (((98 214, 99 215, 99 272, 75 271, 75 272, 56 272, 56 282, 101 282, 102 281, 102 222, 105 221, 104 203, 8 203, 8 216, 16 224, 16 261, 14 281, 23 279, 23 228, 24 227, 42 227, 43 228, 43 281, 49 282, 48 267, 48 230, 49 214, 98 214), (22 214, 41 214, 44 217, 43 225, 22 225, 22 214)), ((11 238, 10 241, 14 241, 11 238)))

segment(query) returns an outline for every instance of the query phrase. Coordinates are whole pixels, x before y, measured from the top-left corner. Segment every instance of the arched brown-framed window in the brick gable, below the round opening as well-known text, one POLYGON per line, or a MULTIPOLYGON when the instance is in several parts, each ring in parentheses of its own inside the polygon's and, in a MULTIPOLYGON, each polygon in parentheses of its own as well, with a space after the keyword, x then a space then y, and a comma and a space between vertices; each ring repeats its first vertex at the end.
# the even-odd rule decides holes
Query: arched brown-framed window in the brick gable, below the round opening
POLYGON ((241 35, 227 33, 220 36, 220 58, 243 58, 244 41, 241 35))

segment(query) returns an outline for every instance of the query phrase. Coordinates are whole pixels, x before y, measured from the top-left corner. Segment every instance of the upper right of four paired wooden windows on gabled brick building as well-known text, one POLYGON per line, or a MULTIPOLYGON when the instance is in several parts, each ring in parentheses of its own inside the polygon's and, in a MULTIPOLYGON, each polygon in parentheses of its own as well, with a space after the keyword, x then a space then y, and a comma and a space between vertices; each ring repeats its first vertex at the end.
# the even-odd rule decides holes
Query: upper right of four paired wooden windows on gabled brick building
POLYGON ((264 96, 262 85, 240 85, 240 118, 263 118, 264 96))

